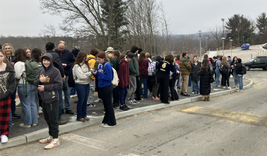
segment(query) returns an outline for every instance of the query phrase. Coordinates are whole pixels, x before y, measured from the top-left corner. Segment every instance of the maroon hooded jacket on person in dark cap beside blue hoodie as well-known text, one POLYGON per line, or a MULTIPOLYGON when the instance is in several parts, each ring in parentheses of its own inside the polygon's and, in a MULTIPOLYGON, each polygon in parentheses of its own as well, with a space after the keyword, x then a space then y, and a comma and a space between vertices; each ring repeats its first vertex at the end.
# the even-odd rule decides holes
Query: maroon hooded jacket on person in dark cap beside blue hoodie
POLYGON ((130 84, 129 64, 124 59, 120 60, 119 63, 118 78, 119 87, 124 88, 130 84))

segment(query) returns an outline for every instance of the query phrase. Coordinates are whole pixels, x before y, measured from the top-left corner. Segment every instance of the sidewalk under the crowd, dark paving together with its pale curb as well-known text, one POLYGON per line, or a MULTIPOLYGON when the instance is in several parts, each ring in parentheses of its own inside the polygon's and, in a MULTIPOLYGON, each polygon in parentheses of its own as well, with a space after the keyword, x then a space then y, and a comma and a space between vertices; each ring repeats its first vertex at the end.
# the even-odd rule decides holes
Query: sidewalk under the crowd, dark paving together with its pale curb
MULTIPOLYGON (((252 80, 248 80, 248 79, 243 79, 243 83, 244 83, 244 86, 246 86, 248 84, 249 85, 253 84, 252 80)), ((231 87, 234 86, 234 80, 232 78, 230 78, 230 86, 231 87)), ((214 83, 212 84, 212 87, 213 88, 211 89, 211 93, 214 93, 214 94, 211 94, 212 97, 224 95, 224 94, 231 93, 231 92, 238 90, 237 88, 232 88, 232 89, 222 89, 222 87, 218 88, 218 87, 215 87, 214 83), (219 89, 219 90, 213 90, 213 89, 219 89)), ((247 87, 247 88, 249 88, 249 87, 247 87)), ((183 103, 188 103, 188 102, 203 99, 203 97, 199 94, 192 94, 192 87, 188 87, 188 94, 190 95, 190 97, 180 96, 180 92, 178 92, 178 95, 179 95, 181 100, 171 102, 169 105, 162 104, 162 103, 160 103, 160 101, 153 101, 151 96, 149 96, 147 99, 144 99, 143 101, 139 101, 140 104, 128 105, 131 107, 131 109, 129 111, 122 111, 122 110, 118 109, 118 111, 115 113, 115 115, 116 115, 116 118, 118 119, 120 117, 138 114, 138 113, 141 113, 143 111, 151 111, 151 110, 155 110, 155 109, 160 109, 160 108, 164 108, 164 107, 174 106, 177 104, 183 104, 183 103), (147 106, 149 106, 149 107, 147 107, 147 106)), ((95 100, 96 99, 97 99, 97 96, 95 96, 95 100)), ((71 99, 71 106, 72 107, 73 106, 75 107, 75 104, 73 103, 73 101, 75 101, 75 100, 77 100, 77 97, 71 99)), ((211 102, 212 102, 212 100, 211 100, 211 102)), ((87 117, 89 117, 91 119, 89 122, 77 122, 76 121, 76 116, 75 116, 76 115, 76 108, 71 108, 74 112, 74 115, 69 115, 69 114, 64 113, 62 115, 62 119, 64 119, 64 120, 67 119, 68 123, 65 125, 59 126, 60 127, 60 134, 64 133, 64 132, 70 132, 70 131, 73 131, 75 129, 87 127, 89 125, 94 125, 96 123, 101 123, 101 121, 103 119, 102 115, 104 115, 103 103, 99 102, 99 103, 94 103, 94 104, 97 105, 97 107, 87 108, 87 117)), ((21 107, 16 107, 16 113, 18 115, 21 115, 21 118, 12 119, 12 122, 15 123, 15 126, 12 127, 12 131, 9 133, 8 143, 5 143, 5 145, 0 144, 1 149, 7 148, 7 147, 12 147, 15 145, 20 145, 20 144, 25 143, 25 141, 26 142, 34 141, 34 140, 40 139, 40 138, 42 138, 48 134, 48 128, 47 128, 48 126, 47 126, 45 119, 44 119, 44 116, 42 114, 39 114, 40 119, 38 120, 39 123, 37 126, 31 126, 30 128, 21 128, 21 127, 19 127, 19 124, 23 123, 23 113, 21 111, 21 107)))

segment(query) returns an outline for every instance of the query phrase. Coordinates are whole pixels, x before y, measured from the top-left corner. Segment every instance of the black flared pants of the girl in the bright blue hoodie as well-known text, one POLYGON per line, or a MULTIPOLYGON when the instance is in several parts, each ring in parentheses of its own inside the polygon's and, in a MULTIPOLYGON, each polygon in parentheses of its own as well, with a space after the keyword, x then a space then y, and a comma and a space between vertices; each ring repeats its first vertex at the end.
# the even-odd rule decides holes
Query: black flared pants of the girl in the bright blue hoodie
POLYGON ((100 96, 102 97, 102 101, 106 111, 102 123, 105 123, 109 126, 114 126, 117 124, 112 105, 112 90, 113 90, 112 84, 102 88, 99 87, 100 96))

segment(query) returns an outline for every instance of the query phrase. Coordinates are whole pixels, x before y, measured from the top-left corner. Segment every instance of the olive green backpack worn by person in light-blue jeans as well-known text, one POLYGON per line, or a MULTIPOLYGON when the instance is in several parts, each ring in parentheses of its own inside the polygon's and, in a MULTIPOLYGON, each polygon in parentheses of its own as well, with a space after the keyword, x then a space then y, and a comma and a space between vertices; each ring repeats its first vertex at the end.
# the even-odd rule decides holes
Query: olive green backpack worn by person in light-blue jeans
POLYGON ((25 71, 26 77, 22 76, 25 79, 25 86, 23 81, 23 91, 25 91, 25 97, 27 97, 27 82, 33 84, 37 75, 39 74, 39 70, 43 68, 40 63, 35 62, 34 60, 28 60, 25 62, 25 71))

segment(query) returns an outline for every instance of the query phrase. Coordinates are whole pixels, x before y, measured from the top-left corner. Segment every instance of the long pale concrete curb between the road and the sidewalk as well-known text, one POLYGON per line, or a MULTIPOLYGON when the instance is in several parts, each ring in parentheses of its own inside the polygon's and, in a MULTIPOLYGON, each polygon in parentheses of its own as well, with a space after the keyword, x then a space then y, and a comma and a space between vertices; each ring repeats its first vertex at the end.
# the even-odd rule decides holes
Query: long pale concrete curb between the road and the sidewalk
MULTIPOLYGON (((248 80, 250 80, 250 79, 248 79, 248 80)), ((244 86, 243 89, 250 88, 252 85, 253 85, 253 81, 250 80, 250 83, 248 85, 244 86)), ((211 97, 221 96, 221 95, 225 95, 228 93, 236 92, 237 90, 239 90, 239 88, 229 89, 229 90, 216 92, 216 93, 211 93, 210 96, 211 97)), ((116 116, 116 119, 118 119, 118 118, 122 118, 125 116, 130 116, 130 115, 135 115, 135 114, 142 113, 142 112, 153 111, 156 109, 176 106, 176 105, 194 102, 194 101, 198 101, 198 100, 202 100, 202 99, 204 99, 204 97, 196 96, 196 97, 191 97, 191 98, 187 98, 187 99, 181 99, 180 101, 172 101, 172 102, 170 102, 170 104, 160 103, 157 105, 145 106, 145 107, 130 109, 128 111, 118 112, 115 114, 115 116, 116 116)), ((74 131, 74 130, 77 130, 80 128, 84 128, 84 127, 88 127, 91 125, 95 125, 95 124, 100 124, 102 122, 103 118, 104 118, 104 115, 101 115, 101 116, 95 117, 94 119, 90 119, 89 122, 69 122, 65 125, 60 125, 59 126, 59 134, 62 134, 65 132, 71 132, 71 131, 74 131)), ((45 138, 45 137, 47 137, 47 135, 48 135, 48 128, 44 128, 44 129, 41 129, 41 130, 38 130, 35 132, 31 132, 31 133, 28 133, 25 135, 21 135, 18 137, 8 139, 7 143, 4 143, 4 144, 0 143, 0 149, 9 148, 9 147, 21 145, 21 144, 24 144, 27 142, 35 141, 35 140, 38 140, 41 138, 45 138)))

